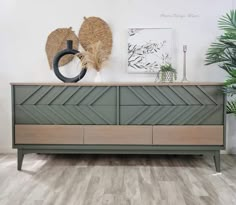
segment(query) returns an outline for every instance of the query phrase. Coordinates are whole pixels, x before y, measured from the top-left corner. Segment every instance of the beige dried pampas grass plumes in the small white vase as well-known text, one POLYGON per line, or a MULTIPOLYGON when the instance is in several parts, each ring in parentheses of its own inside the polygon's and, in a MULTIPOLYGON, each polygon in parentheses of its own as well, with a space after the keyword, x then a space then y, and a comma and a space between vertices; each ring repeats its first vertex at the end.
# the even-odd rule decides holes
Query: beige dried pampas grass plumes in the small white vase
POLYGON ((108 60, 107 52, 102 49, 101 41, 91 44, 87 51, 78 54, 83 67, 94 68, 99 72, 108 60))

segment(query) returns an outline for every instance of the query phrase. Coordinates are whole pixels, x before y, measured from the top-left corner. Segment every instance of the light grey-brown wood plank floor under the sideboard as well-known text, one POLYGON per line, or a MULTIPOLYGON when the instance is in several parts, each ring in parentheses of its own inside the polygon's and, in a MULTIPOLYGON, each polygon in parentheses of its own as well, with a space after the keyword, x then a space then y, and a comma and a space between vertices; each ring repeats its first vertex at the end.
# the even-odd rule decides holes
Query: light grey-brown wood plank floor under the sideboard
POLYGON ((1 205, 235 205, 236 156, 0 155, 1 205))

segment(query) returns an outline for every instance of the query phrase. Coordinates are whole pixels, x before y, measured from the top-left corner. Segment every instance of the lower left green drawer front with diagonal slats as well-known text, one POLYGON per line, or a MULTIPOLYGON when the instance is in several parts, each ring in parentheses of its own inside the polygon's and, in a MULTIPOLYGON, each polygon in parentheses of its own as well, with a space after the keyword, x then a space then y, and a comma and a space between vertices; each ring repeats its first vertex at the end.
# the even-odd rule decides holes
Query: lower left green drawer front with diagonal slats
POLYGON ((15 105, 16 124, 114 125, 116 106, 15 105))

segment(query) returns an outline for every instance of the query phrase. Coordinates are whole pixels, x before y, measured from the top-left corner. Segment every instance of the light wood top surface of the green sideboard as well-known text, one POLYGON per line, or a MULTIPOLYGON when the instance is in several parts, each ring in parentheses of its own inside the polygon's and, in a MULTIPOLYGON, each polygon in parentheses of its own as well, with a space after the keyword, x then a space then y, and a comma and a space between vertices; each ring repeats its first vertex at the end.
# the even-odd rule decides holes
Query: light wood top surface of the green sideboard
POLYGON ((223 82, 78 82, 78 83, 56 83, 56 82, 13 82, 11 85, 50 85, 50 86, 172 86, 172 85, 224 85, 223 82))

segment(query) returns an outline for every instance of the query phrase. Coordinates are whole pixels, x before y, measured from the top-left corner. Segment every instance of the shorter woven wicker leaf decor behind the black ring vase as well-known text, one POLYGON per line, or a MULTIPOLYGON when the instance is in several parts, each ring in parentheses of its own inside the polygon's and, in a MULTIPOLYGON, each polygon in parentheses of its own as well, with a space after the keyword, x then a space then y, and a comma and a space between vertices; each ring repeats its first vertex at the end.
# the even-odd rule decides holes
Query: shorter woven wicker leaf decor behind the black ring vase
MULTIPOLYGON (((46 53, 50 69, 52 69, 52 63, 54 56, 61 50, 66 48, 67 40, 73 41, 73 49, 78 50, 79 39, 72 31, 72 28, 58 28, 51 32, 47 38, 46 53)), ((66 55, 60 60, 59 66, 63 66, 69 63, 73 59, 72 55, 66 55)))

